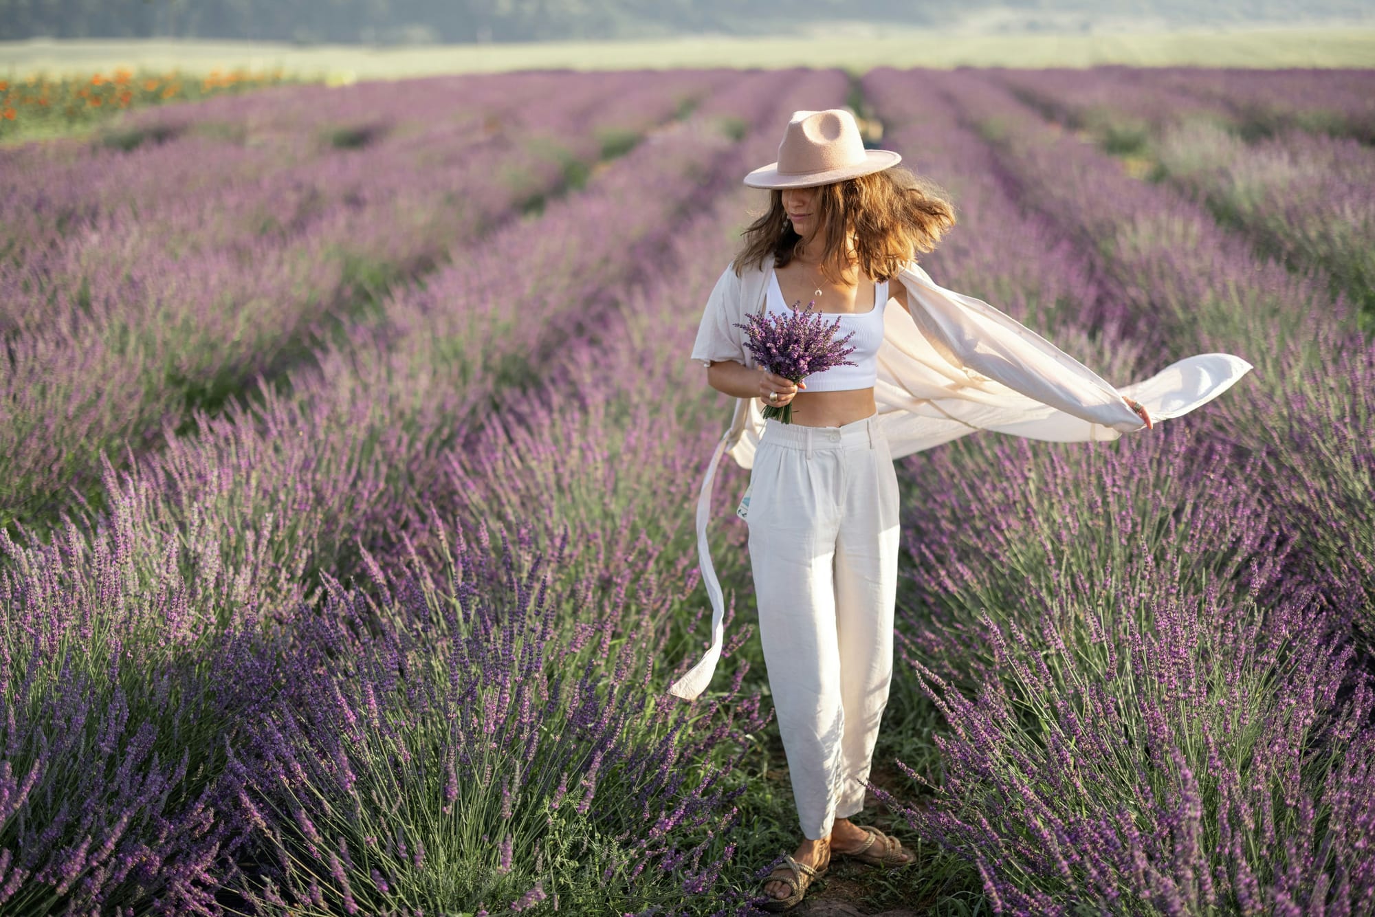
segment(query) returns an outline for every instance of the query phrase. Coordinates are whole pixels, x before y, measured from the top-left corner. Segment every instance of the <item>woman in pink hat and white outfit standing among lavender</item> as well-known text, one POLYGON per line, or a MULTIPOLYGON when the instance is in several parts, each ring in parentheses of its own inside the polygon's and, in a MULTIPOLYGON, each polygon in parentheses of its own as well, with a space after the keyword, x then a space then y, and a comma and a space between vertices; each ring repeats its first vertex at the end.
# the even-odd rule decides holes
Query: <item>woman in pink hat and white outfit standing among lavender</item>
POLYGON ((1033 439, 1112 440, 1216 397, 1250 364, 1211 353, 1180 360, 1122 392, 1030 329, 936 286, 913 257, 954 224, 945 199, 865 150, 854 115, 798 111, 778 161, 745 184, 770 208, 707 302, 693 360, 707 382, 740 399, 697 505, 712 646, 670 692, 700 694, 723 641, 723 601, 705 522, 716 462, 751 469, 741 516, 769 685, 803 840, 764 883, 773 910, 802 901, 830 854, 898 866, 902 844, 850 818, 865 781, 892 672, 898 572, 895 456, 978 429, 1033 439), (747 309, 813 301, 854 331, 855 366, 793 385, 744 348, 747 309), (1141 400, 1134 400, 1140 397, 1141 400), (792 423, 763 425, 760 407, 793 406, 792 423))

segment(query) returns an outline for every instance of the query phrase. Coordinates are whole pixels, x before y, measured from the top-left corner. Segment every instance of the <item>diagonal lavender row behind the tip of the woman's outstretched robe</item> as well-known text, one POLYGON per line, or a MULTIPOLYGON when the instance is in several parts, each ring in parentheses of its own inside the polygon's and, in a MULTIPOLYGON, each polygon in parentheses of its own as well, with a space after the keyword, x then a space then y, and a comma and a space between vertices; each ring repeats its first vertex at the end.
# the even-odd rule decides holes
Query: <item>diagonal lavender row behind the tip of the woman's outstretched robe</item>
MULTIPOLYGON (((978 87, 978 82, 969 82, 978 87)), ((1321 271, 1288 272, 1258 258, 1196 202, 1134 181, 1094 150, 1046 129, 1006 93, 989 88, 980 129, 1005 151, 1009 177, 1030 206, 1055 214, 1126 301, 1140 304, 1159 345, 1244 353, 1255 364, 1250 397, 1203 417, 1211 433, 1265 462, 1284 525, 1305 536, 1304 555, 1334 586, 1330 598, 1364 648, 1375 641, 1375 456, 1364 448, 1375 349, 1354 309, 1330 296, 1321 271), (1063 173, 1066 164, 1072 173, 1063 173)), ((972 115, 971 115, 972 117, 972 115)))

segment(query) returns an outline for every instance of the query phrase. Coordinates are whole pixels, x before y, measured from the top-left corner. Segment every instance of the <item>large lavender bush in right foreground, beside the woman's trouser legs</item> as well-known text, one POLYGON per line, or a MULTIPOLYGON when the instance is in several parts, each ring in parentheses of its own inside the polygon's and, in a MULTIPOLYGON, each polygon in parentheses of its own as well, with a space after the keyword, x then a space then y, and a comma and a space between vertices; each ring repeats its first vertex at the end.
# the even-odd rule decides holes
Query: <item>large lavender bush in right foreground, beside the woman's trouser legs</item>
POLYGON ((1287 576, 1239 483, 1255 469, 1181 426, 1125 456, 998 444, 923 476, 912 608, 945 627, 903 654, 952 734, 942 804, 908 815, 1015 910, 1361 913, 1370 676, 1287 576))

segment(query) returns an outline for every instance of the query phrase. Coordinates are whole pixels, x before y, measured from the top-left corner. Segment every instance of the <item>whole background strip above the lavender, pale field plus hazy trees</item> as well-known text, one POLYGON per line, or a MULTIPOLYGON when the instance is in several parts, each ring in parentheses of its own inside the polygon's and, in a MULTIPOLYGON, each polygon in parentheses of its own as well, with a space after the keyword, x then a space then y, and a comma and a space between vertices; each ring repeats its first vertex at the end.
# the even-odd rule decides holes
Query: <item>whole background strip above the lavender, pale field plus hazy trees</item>
POLYGON ((0 0, 0 77, 282 70, 346 84, 676 67, 1375 66, 1353 0, 0 0))

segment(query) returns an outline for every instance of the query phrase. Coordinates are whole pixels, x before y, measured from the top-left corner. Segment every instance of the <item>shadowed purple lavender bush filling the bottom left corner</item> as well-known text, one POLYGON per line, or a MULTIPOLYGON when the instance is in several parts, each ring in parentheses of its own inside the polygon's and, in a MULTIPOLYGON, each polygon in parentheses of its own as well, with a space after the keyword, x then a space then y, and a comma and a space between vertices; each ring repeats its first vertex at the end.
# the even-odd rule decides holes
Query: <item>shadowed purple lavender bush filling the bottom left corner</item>
POLYGON ((217 913, 245 839, 226 742, 280 689, 261 660, 283 648, 252 608, 220 617, 213 572, 164 557, 140 588, 132 517, 94 544, 67 525, 52 550, 0 531, 6 913, 217 913))

